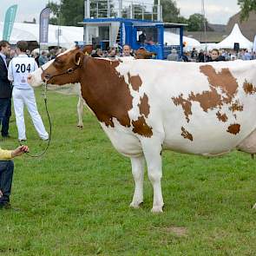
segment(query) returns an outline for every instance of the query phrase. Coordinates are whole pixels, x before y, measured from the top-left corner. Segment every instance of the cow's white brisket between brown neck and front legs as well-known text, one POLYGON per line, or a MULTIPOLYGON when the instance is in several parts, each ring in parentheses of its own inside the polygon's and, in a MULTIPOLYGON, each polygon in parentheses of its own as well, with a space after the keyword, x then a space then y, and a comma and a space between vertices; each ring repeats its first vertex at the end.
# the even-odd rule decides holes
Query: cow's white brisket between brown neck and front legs
POLYGON ((115 149, 125 156, 141 156, 143 152, 139 138, 131 132, 130 128, 121 126, 117 121, 114 123, 115 128, 107 127, 104 123, 101 123, 101 126, 115 149))

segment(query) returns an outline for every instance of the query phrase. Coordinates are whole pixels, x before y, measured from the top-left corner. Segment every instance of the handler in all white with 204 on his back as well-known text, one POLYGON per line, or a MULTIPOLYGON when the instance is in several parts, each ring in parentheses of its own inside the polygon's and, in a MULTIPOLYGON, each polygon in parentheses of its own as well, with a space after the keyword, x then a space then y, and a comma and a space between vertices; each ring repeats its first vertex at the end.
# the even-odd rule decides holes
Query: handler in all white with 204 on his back
POLYGON ((36 107, 36 97, 34 89, 27 82, 27 76, 30 72, 38 69, 34 58, 26 55, 26 49, 28 49, 28 43, 25 41, 19 41, 16 43, 17 55, 9 64, 8 79, 13 84, 12 98, 14 111, 16 115, 16 127, 18 131, 18 140, 26 141, 26 128, 24 121, 24 105, 28 108, 31 119, 36 128, 36 132, 42 140, 49 139, 49 135, 44 128, 41 116, 38 113, 36 107))

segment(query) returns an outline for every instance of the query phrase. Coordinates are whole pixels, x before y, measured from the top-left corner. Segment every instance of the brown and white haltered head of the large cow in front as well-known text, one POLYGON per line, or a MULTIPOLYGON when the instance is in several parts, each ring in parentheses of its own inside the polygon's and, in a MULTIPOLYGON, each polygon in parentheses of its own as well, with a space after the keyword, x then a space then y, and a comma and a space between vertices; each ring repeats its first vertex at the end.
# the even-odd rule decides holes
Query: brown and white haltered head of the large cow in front
POLYGON ((58 85, 79 82, 80 68, 88 53, 88 46, 83 49, 69 49, 56 56, 55 60, 45 63, 41 69, 32 72, 28 76, 28 82, 33 87, 40 86, 43 82, 58 85))

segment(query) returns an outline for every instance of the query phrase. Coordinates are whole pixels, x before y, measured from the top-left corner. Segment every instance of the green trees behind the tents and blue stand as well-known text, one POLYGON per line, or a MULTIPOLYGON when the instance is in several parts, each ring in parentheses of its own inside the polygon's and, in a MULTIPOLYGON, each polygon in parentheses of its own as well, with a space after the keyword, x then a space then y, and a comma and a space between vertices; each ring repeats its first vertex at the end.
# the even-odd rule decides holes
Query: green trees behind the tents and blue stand
MULTIPOLYGON (((156 3, 157 0, 154 0, 154 4, 156 3)), ((61 4, 49 2, 47 7, 52 10, 50 23, 65 26, 82 26, 79 23, 82 22, 84 16, 83 4, 84 0, 61 0, 61 4)), ((238 4, 240 5, 242 20, 249 16, 250 11, 256 11, 255 0, 238 0, 238 4)), ((161 0, 161 5, 165 23, 187 23, 185 29, 189 31, 202 31, 206 24, 207 31, 212 30, 207 18, 200 13, 194 13, 188 18, 181 16, 181 11, 174 0, 161 0)), ((142 5, 141 8, 143 8, 142 5)))

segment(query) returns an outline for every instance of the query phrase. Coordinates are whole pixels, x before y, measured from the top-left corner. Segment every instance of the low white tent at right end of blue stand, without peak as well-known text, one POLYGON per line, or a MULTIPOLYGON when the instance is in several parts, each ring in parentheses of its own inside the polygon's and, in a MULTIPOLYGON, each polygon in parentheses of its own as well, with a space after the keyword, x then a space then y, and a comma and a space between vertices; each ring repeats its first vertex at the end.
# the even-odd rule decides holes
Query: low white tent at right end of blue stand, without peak
MULTIPOLYGON (((183 36, 183 42, 186 43, 185 50, 192 50, 194 47, 200 48, 200 42, 194 38, 183 36)), ((167 45, 180 45, 180 35, 165 31, 164 43, 167 43, 167 45)))

